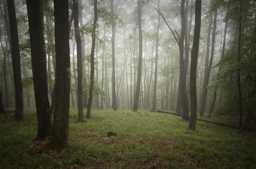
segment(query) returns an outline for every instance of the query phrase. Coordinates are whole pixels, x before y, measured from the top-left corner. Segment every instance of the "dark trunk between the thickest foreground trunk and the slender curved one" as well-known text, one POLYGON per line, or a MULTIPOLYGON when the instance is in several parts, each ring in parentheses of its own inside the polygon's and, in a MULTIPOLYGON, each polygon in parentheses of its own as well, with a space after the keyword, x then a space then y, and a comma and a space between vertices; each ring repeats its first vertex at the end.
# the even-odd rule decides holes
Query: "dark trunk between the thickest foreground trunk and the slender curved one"
POLYGON ((82 68, 81 36, 80 36, 80 29, 79 29, 78 0, 73 0, 73 14, 74 14, 75 37, 76 37, 76 53, 77 53, 78 121, 81 121, 84 118, 84 109, 83 109, 83 68, 82 68))

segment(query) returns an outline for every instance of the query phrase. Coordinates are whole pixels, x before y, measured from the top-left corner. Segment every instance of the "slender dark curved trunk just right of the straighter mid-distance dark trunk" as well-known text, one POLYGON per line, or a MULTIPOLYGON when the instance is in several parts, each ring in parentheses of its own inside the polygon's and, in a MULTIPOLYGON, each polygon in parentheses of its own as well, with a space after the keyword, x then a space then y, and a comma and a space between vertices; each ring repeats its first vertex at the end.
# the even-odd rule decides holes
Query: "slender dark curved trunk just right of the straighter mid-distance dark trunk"
POLYGON ((94 85, 94 52, 95 52, 95 44, 96 44, 96 26, 98 20, 98 9, 97 9, 97 0, 94 0, 93 3, 94 8, 94 20, 93 20, 93 32, 92 32, 92 50, 91 50, 91 73, 90 73, 90 91, 89 91, 89 100, 88 100, 88 107, 87 107, 87 119, 90 119, 90 110, 92 107, 93 102, 93 85, 94 85))

